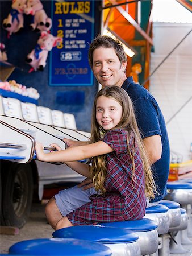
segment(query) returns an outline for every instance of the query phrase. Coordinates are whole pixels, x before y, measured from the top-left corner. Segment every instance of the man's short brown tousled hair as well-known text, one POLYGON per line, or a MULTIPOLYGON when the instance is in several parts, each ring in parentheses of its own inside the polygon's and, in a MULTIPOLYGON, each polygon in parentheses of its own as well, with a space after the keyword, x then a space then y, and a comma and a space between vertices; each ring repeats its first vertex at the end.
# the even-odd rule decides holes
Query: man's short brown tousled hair
POLYGON ((96 36, 90 43, 89 52, 88 52, 88 60, 91 69, 93 69, 93 52, 98 48, 114 48, 116 55, 119 58, 120 63, 127 62, 127 55, 123 49, 122 43, 118 40, 114 40, 110 38, 110 36, 96 36))

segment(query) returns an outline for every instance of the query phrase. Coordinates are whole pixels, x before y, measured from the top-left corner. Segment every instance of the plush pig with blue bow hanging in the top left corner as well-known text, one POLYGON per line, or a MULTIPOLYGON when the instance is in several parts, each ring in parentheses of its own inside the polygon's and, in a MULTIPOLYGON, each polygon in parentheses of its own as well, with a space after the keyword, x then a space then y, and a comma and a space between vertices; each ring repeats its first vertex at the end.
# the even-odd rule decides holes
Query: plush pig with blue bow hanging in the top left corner
POLYGON ((23 29, 23 13, 27 7, 26 3, 27 0, 12 0, 12 9, 2 24, 2 27, 8 31, 8 38, 12 33, 23 29))

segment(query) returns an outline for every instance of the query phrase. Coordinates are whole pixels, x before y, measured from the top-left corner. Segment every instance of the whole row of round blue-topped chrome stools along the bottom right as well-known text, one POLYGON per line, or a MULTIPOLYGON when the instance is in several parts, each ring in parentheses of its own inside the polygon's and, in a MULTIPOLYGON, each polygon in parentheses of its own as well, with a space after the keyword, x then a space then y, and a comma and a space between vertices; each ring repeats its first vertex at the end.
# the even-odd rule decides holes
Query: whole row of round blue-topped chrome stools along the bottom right
POLYGON ((147 208, 142 220, 63 228, 53 232, 53 238, 15 243, 9 254, 191 256, 191 183, 168 183, 165 200, 147 208))

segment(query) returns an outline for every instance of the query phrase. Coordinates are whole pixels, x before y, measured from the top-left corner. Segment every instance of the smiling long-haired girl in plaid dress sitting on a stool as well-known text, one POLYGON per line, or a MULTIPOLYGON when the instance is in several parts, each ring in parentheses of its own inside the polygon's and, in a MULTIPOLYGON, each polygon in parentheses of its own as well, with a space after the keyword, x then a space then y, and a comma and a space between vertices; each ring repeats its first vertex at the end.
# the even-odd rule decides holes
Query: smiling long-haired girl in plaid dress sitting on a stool
MULTIPOLYGON (((60 150, 56 144, 52 146, 60 150)), ((98 192, 91 195, 89 203, 61 218, 56 229, 137 220, 145 215, 145 196, 154 197, 150 163, 144 154, 132 102, 118 86, 106 86, 95 97, 89 145, 44 154, 43 146, 36 143, 36 154, 41 161, 65 162, 91 178, 98 192), (86 158, 91 158, 90 166, 73 162, 86 158)))

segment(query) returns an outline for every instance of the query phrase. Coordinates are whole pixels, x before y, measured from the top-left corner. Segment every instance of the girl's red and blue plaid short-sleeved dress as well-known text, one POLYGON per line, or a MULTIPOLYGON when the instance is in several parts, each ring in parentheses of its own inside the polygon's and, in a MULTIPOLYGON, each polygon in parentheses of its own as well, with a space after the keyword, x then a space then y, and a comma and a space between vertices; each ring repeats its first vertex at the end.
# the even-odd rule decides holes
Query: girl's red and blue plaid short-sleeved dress
MULTIPOLYGON (((92 195, 90 202, 67 215, 73 225, 91 225, 98 222, 138 220, 145 215, 145 181, 143 164, 135 146, 135 181, 132 177, 132 160, 127 153, 127 131, 115 129, 107 131, 103 142, 114 149, 107 154, 106 194, 92 195)), ((133 149, 133 133, 129 148, 133 149)))

